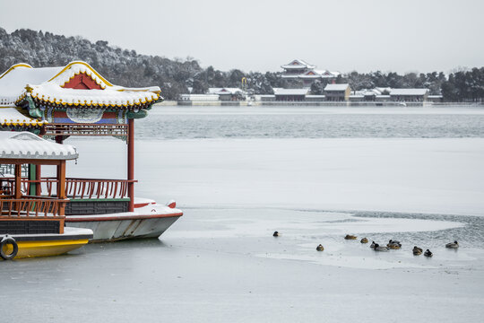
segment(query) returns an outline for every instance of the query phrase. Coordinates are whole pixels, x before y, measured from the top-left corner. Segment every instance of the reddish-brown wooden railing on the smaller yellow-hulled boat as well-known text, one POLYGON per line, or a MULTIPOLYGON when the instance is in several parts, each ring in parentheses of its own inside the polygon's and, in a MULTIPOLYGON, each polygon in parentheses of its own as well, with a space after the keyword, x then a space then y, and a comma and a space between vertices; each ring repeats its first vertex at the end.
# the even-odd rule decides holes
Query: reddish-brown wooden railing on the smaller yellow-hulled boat
POLYGON ((0 218, 64 219, 65 216, 60 215, 59 211, 68 201, 43 196, 22 196, 22 198, 2 196, 0 198, 2 205, 0 218))

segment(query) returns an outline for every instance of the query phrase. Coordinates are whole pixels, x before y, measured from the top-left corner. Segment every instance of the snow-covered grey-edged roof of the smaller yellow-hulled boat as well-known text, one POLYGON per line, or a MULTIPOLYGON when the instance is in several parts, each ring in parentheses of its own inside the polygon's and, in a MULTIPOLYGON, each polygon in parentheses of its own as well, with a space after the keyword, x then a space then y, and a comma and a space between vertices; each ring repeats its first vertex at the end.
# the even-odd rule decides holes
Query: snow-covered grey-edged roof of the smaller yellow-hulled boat
POLYGON ((56 144, 30 132, 0 132, 0 158, 73 160, 79 157, 70 144, 56 144))

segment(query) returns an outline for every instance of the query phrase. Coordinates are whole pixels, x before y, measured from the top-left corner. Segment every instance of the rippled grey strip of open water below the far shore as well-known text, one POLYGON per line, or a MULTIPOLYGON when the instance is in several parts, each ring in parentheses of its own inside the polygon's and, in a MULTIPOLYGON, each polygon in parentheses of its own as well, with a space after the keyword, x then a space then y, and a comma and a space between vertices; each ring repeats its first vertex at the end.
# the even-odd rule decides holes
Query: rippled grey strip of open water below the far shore
POLYGON ((143 138, 462 138, 484 136, 484 108, 155 107, 143 138))

